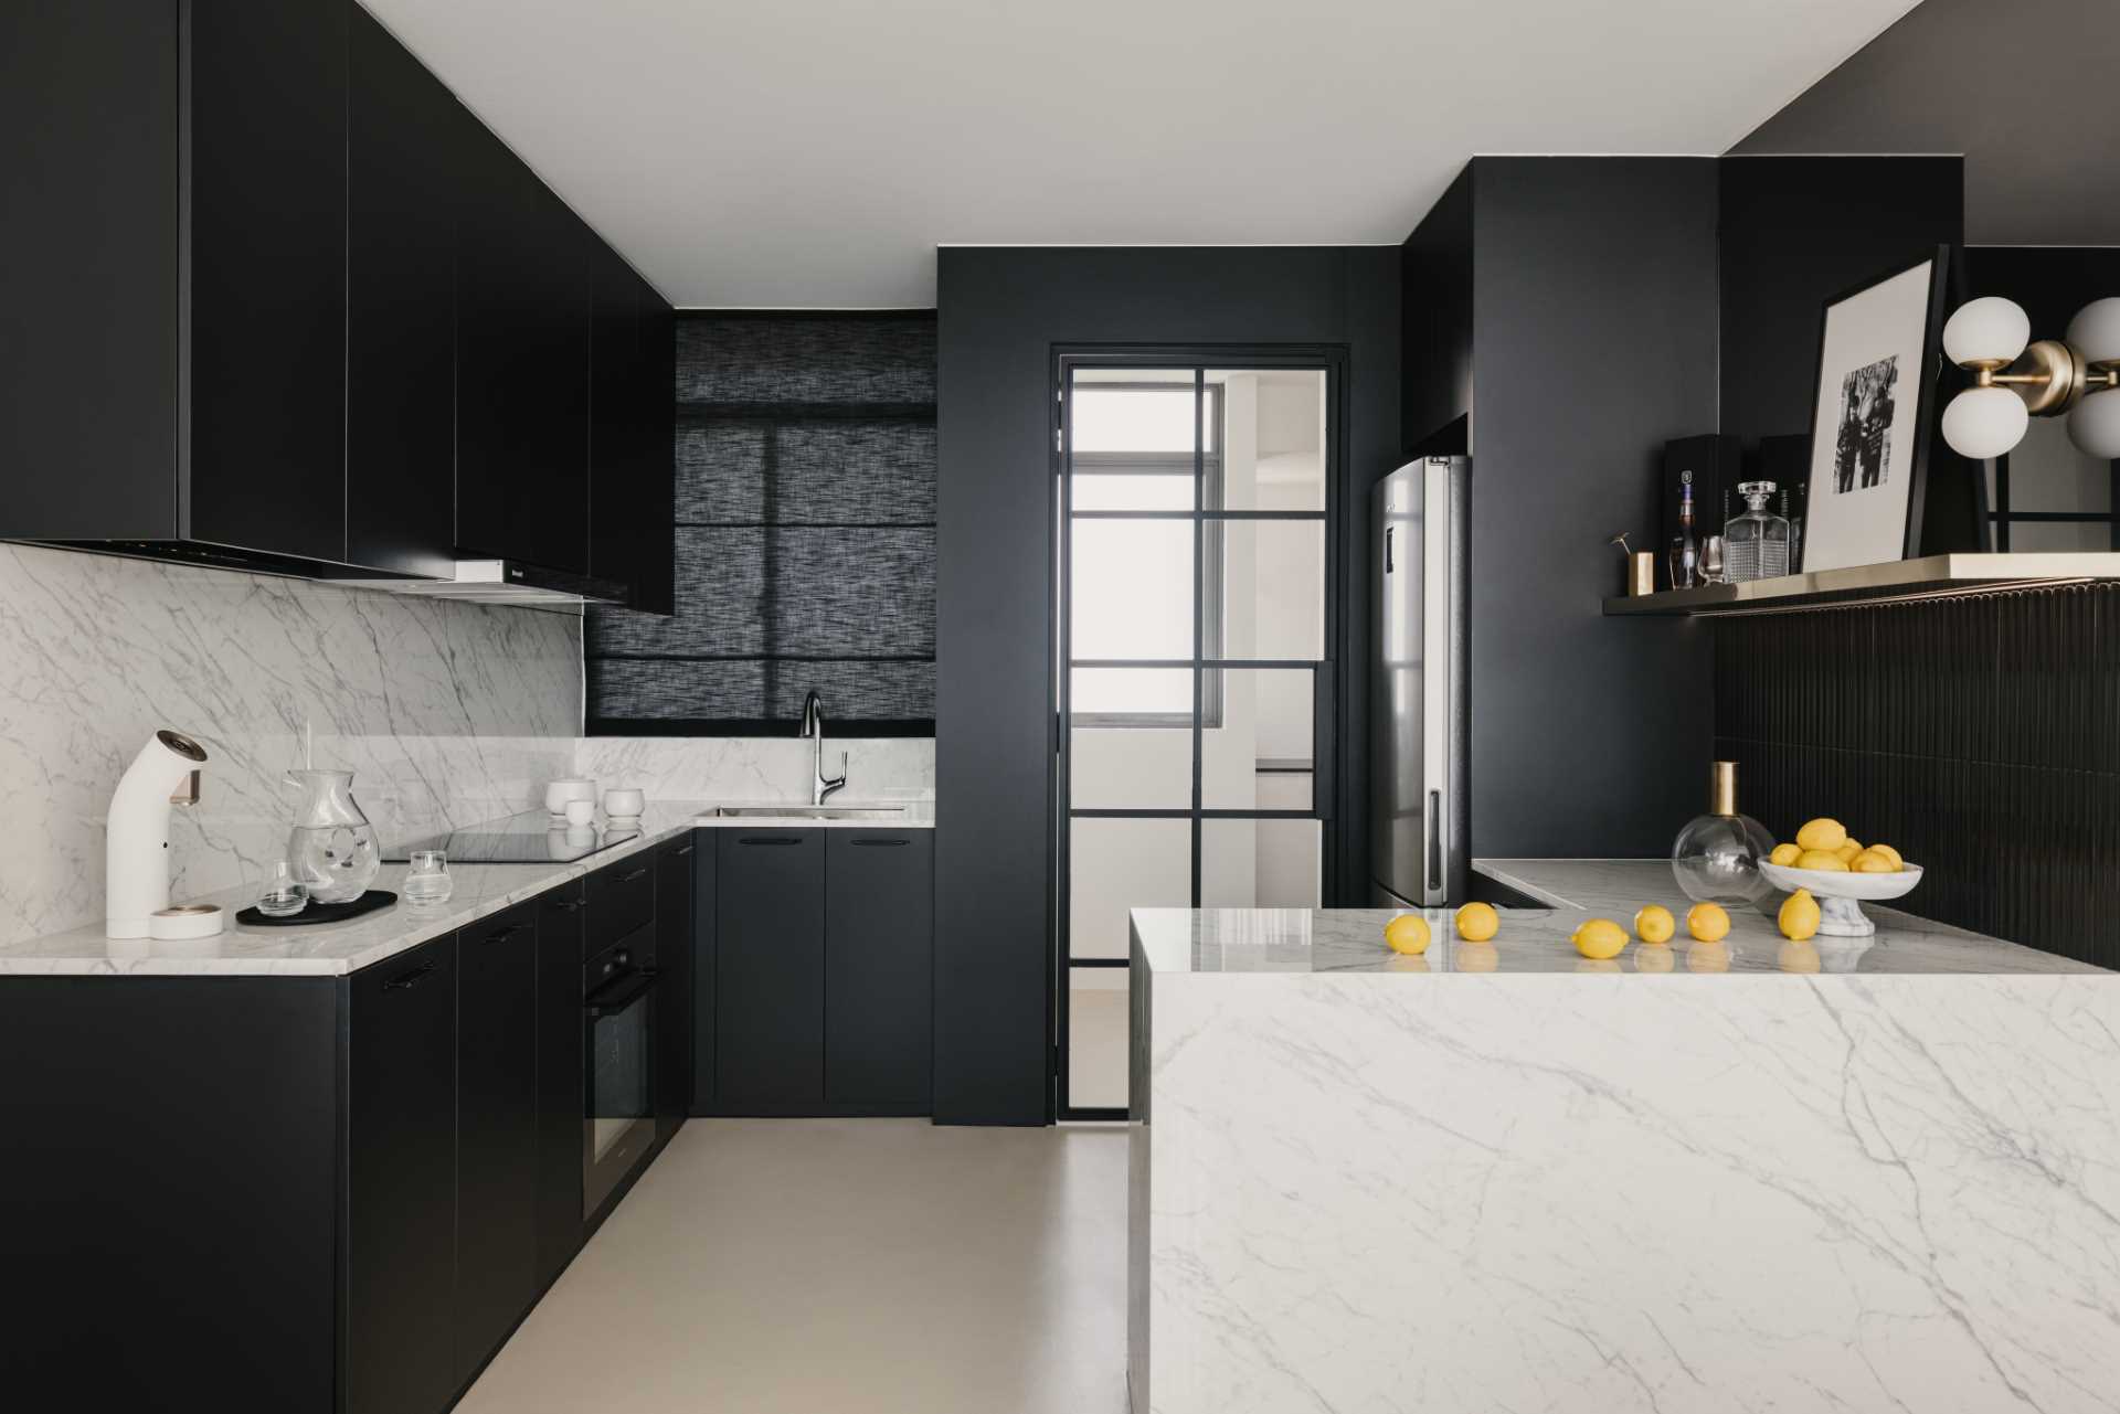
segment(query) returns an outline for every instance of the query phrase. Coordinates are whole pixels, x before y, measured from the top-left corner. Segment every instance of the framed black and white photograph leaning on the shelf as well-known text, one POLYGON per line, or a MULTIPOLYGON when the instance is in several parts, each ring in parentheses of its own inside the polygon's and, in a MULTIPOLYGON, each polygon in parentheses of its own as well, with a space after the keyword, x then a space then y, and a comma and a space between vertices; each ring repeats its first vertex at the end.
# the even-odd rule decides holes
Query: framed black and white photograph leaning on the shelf
POLYGON ((1804 570, 1910 560, 1921 549, 1946 261, 1938 246, 1825 301, 1804 570))

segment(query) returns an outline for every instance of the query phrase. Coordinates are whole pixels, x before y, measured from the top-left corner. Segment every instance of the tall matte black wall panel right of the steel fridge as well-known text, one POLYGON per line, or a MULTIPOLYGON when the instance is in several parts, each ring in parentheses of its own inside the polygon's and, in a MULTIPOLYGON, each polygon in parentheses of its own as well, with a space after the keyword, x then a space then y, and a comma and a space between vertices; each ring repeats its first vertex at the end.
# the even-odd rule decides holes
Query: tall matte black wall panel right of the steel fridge
POLYGON ((1662 854, 1704 806, 1709 634, 1601 598, 1664 443, 1715 430, 1715 165, 1473 163, 1476 856, 1662 854))

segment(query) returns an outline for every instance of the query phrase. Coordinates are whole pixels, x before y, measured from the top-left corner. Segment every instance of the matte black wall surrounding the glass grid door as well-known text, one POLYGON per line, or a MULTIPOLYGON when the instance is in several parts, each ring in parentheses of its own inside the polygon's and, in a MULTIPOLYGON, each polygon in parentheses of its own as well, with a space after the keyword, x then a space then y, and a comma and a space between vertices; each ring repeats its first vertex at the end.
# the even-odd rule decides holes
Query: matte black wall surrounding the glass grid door
MULTIPOLYGON (((935 1119, 1052 1117, 1056 343, 1340 343, 1348 530, 1397 464, 1399 252, 939 252, 935 1119)), ((1357 538, 1357 545, 1361 541, 1357 538)), ((1367 560, 1342 553, 1342 886, 1367 859, 1367 560)))

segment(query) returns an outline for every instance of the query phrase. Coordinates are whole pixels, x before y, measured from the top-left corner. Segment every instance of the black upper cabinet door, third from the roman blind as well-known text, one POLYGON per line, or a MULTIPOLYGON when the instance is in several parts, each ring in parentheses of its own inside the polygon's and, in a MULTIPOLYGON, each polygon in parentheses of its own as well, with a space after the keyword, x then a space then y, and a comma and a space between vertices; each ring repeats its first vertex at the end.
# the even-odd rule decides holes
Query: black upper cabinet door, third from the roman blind
POLYGON ((358 4, 348 47, 346 560, 449 575, 456 100, 358 4))

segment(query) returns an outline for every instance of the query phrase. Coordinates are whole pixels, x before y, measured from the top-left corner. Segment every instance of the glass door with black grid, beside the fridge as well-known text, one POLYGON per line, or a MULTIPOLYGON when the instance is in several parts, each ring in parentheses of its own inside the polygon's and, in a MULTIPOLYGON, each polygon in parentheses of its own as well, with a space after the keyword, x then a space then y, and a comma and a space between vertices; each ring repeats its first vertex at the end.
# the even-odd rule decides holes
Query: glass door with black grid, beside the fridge
POLYGON ((1321 903, 1336 377, 1058 373, 1058 1111, 1124 1117, 1128 909, 1321 903))

